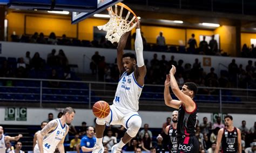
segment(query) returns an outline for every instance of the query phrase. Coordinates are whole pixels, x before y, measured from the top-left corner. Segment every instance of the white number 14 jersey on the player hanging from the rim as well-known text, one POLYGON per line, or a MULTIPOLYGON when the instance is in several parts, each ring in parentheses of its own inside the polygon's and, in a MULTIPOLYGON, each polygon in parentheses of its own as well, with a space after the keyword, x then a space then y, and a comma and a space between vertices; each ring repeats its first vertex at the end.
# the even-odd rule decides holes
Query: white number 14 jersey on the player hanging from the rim
POLYGON ((139 110, 139 97, 143 86, 140 86, 134 77, 134 72, 127 75, 123 73, 119 79, 113 106, 117 107, 124 114, 137 112, 139 110))

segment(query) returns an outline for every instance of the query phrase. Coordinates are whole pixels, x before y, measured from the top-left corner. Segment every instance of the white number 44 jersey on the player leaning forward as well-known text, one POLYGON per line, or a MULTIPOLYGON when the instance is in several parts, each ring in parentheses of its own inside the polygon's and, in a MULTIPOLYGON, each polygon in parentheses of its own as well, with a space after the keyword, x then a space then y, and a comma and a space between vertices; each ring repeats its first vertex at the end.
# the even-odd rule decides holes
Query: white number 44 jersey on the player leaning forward
POLYGON ((58 123, 58 126, 55 130, 53 130, 51 133, 46 135, 43 138, 43 148, 44 150, 47 150, 48 152, 55 152, 55 149, 58 145, 58 143, 62 140, 62 138, 66 134, 66 123, 64 127, 62 127, 62 123, 59 119, 55 119, 58 123))

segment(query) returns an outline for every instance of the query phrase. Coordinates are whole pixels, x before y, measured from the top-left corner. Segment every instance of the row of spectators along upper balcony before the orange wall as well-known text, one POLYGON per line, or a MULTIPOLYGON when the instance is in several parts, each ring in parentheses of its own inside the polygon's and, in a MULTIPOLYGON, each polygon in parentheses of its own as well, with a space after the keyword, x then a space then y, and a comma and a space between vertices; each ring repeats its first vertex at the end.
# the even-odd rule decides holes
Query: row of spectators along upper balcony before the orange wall
MULTIPOLYGON (((131 40, 134 41, 136 33, 132 34, 131 40)), ((205 54, 205 55, 222 55, 228 56, 226 52, 219 50, 217 40, 214 39, 214 35, 209 43, 205 40, 199 42, 197 45, 197 40, 195 35, 192 34, 191 38, 188 40, 187 45, 170 45, 166 44, 163 32, 159 33, 156 39, 156 43, 147 43, 146 38, 143 36, 143 46, 145 51, 160 51, 160 52, 173 52, 173 53, 187 53, 187 54, 205 54)), ((22 43, 38 43, 38 44, 52 44, 52 45, 69 45, 69 46, 84 46, 84 47, 100 47, 100 48, 116 48, 117 43, 112 44, 107 41, 104 36, 100 37, 99 40, 79 40, 77 38, 67 38, 65 34, 61 38, 57 38, 54 32, 51 32, 49 37, 45 37, 44 33, 35 32, 32 36, 22 35, 21 37, 12 34, 11 41, 22 42, 22 43)), ((129 47, 130 48, 130 47, 129 47)), ((245 58, 256 58, 256 48, 252 44, 251 48, 247 47, 246 44, 242 46, 241 57, 245 58)))

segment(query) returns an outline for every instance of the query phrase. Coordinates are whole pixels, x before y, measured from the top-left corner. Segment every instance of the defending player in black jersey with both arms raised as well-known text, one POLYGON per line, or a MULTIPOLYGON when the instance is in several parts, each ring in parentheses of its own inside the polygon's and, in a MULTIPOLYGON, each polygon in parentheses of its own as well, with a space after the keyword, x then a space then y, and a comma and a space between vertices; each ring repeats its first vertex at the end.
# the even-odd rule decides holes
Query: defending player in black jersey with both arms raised
POLYGON ((196 124, 198 118, 198 107, 193 101, 197 93, 197 85, 193 82, 186 82, 181 90, 177 84, 174 74, 176 67, 172 65, 170 74, 166 75, 164 99, 165 105, 179 109, 177 125, 177 152, 195 152, 198 153, 199 142, 196 134, 196 124), (174 95, 179 100, 173 100, 169 91, 171 86, 174 95))

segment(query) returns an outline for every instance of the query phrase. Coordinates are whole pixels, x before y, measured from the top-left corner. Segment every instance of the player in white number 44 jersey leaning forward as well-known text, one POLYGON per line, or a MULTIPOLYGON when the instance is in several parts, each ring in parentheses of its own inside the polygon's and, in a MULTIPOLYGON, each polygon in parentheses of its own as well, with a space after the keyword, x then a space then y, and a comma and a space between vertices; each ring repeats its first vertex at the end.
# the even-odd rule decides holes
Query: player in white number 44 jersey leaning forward
POLYGON ((58 148, 60 153, 65 153, 63 142, 66 134, 69 132, 69 126, 75 116, 75 110, 66 107, 60 119, 50 121, 38 134, 37 144, 34 153, 52 153, 58 148))

